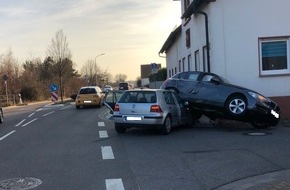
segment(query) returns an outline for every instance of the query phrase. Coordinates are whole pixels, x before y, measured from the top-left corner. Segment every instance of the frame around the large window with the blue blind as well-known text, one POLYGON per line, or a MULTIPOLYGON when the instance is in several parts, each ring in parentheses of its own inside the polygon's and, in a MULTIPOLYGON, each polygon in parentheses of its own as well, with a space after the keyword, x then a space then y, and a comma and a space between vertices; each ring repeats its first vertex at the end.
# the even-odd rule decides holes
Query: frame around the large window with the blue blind
POLYGON ((284 37, 269 37, 269 38, 259 38, 259 74, 260 76, 273 76, 273 75, 290 75, 290 36, 284 37), (277 70, 263 70, 263 55, 262 55, 262 43, 264 42, 286 42, 286 61, 287 69, 277 69, 277 70))

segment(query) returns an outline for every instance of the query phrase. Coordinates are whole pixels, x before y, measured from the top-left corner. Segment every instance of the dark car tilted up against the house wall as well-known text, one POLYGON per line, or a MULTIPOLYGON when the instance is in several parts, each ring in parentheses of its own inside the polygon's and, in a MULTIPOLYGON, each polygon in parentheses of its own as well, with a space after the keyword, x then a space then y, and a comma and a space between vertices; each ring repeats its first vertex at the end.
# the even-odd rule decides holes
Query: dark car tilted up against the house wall
POLYGON ((181 72, 164 81, 160 88, 171 89, 188 101, 197 119, 204 114, 211 119, 248 122, 256 128, 279 123, 277 103, 254 90, 231 85, 214 73, 181 72))

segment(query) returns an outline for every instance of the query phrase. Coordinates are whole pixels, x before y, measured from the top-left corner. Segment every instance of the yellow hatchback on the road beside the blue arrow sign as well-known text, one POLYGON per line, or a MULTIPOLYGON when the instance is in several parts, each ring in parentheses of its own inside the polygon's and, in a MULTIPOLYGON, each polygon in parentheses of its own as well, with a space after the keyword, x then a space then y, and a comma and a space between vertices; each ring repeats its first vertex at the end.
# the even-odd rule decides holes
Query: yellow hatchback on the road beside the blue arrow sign
POLYGON ((104 93, 98 86, 81 87, 76 97, 76 108, 81 106, 98 106, 102 107, 104 100, 104 93))

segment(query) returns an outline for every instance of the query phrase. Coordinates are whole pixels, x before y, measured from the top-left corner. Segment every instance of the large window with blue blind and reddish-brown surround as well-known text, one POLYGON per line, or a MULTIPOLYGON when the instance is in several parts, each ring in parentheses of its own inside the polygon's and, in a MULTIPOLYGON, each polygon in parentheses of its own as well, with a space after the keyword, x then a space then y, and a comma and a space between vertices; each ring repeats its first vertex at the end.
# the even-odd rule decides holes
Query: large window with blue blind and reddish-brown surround
POLYGON ((290 38, 260 39, 260 74, 289 74, 290 38))

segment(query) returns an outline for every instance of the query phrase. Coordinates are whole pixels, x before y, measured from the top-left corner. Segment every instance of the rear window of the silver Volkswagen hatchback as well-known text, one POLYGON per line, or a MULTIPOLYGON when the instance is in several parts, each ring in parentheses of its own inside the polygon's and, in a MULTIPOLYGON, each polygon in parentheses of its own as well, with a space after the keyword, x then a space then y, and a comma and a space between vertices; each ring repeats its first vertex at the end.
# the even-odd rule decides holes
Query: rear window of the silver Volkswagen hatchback
POLYGON ((156 93, 152 91, 126 91, 119 103, 156 103, 156 93))

